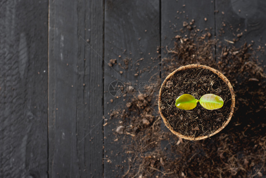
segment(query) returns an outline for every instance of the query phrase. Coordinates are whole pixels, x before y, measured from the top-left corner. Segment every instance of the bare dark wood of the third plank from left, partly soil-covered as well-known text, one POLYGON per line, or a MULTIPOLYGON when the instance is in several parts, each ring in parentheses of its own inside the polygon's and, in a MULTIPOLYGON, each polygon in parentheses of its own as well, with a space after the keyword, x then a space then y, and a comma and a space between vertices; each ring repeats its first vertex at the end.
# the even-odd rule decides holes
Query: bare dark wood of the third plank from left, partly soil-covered
MULTIPOLYGON (((125 106, 129 97, 116 98, 108 92, 111 82, 118 79, 127 81, 148 81, 158 72, 159 59, 155 59, 157 47, 160 46, 160 9, 159 0, 134 1, 105 1, 105 52, 104 52, 104 114, 108 116, 111 109, 125 106), (124 51, 126 50, 126 51, 124 51), (121 57, 119 57, 121 56, 121 57), (118 65, 109 67, 110 59, 117 59, 117 63, 131 58, 127 69, 118 65), (150 68, 135 76, 135 62, 144 58, 138 66, 138 71, 150 68), (152 62, 154 60, 154 62, 152 62), (130 65, 132 64, 132 66, 130 65), (154 68, 155 66, 155 68, 154 68), (157 66, 157 68, 156 68, 157 66), (153 69, 153 70, 152 70, 153 69), (120 74, 119 72, 123 73, 120 74), (110 100, 113 102, 110 102, 110 100), (123 101, 125 99, 125 101, 123 101)), ((114 141, 114 131, 118 126, 118 119, 109 120, 106 117, 104 126, 104 176, 122 177, 128 170, 127 155, 123 150, 122 140, 114 141)))

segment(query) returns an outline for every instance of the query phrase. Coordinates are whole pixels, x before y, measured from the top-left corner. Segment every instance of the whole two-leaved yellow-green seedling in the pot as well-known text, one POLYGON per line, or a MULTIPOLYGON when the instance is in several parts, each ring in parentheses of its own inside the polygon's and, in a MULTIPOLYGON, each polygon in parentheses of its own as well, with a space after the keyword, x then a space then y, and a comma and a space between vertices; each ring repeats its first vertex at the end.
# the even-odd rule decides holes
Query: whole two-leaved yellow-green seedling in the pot
POLYGON ((175 106, 179 109, 190 110, 194 109, 198 102, 202 107, 208 110, 219 109, 224 105, 224 100, 217 95, 206 94, 197 100, 189 94, 184 94, 175 100, 175 106))

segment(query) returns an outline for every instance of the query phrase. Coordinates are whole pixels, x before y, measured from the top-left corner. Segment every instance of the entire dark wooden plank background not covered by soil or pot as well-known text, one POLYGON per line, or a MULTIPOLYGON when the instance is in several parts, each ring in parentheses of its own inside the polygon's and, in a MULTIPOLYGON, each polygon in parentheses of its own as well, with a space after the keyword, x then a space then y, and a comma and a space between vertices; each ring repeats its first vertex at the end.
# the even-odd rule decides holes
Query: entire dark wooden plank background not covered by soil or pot
MULTIPOLYGON (((168 56, 156 49, 173 44, 186 18, 212 38, 224 21, 264 45, 265 9, 264 0, 2 0, 0 177, 121 177, 116 164, 127 165, 109 123, 117 121, 103 116, 124 101, 108 93, 110 82, 160 75, 168 56), (121 75, 107 64, 119 55, 151 70, 121 75)), ((234 38, 224 31, 221 40, 234 38)))

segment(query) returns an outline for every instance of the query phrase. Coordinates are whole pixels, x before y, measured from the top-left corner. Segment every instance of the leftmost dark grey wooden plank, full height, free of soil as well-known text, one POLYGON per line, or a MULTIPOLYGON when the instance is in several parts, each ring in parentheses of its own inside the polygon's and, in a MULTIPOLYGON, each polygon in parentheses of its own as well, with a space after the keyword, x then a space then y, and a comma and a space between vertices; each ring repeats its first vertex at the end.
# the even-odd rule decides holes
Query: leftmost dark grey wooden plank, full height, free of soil
POLYGON ((47 13, 0 2, 0 177, 47 177, 47 13))

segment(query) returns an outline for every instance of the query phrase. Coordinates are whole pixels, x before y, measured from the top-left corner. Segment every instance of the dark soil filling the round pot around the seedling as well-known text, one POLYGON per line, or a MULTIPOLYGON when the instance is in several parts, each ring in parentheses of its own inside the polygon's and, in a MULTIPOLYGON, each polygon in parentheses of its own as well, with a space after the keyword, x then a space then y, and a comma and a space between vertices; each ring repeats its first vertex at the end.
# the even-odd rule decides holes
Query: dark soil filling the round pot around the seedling
POLYGON ((208 69, 193 68, 176 72, 161 87, 161 111, 170 127, 182 135, 198 137, 212 134, 229 118, 231 93, 229 87, 217 74, 208 69), (207 110, 199 103, 194 109, 184 110, 175 106, 175 100, 183 94, 200 99, 214 94, 224 100, 220 109, 207 110))

